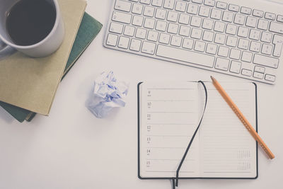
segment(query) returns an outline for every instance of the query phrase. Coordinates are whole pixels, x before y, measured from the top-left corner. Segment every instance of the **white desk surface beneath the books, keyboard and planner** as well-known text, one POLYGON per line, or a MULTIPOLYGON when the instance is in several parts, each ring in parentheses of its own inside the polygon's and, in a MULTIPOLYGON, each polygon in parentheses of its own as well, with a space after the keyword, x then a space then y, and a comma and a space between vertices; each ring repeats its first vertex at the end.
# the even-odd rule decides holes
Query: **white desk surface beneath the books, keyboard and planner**
MULTIPOLYGON (((86 11, 103 25, 112 0, 90 0, 86 11)), ((137 83, 152 80, 247 81, 103 47, 105 27, 59 85, 49 117, 18 123, 0 108, 0 188, 171 188, 137 177, 137 83), (130 82, 125 108, 98 119, 85 107, 93 80, 115 71, 130 82)), ((282 73, 282 67, 280 72, 282 73)), ((259 134, 275 154, 259 149, 256 180, 184 180, 179 188, 283 188, 283 74, 258 83, 259 134)))

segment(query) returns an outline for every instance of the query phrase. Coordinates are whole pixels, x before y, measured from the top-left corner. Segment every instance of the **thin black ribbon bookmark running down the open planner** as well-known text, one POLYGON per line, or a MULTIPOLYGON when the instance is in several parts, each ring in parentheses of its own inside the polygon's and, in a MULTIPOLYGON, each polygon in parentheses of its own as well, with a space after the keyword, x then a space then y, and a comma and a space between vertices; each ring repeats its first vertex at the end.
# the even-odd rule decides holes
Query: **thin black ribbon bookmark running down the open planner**
POLYGON ((180 168, 182 167, 183 162, 185 161, 185 157, 187 156, 187 152, 189 151, 190 146, 191 146, 192 142, 195 139, 195 135, 197 134, 197 131, 200 129, 200 125, 202 124, 202 119, 204 117, 204 112, 205 112, 205 109, 207 108, 207 87, 205 86, 204 82, 202 82, 202 81, 198 81, 198 83, 202 84, 202 86, 204 87, 204 92, 205 92, 204 110, 203 110, 203 113, 202 113, 202 118, 200 119, 200 123, 197 126, 197 129, 195 130, 195 133, 192 135, 192 139, 190 139, 190 143, 189 143, 189 145, 187 145, 187 149, 185 150, 185 154, 183 155, 183 158, 180 161, 180 164, 179 164, 178 169, 176 171, 176 178, 172 178, 173 189, 175 189, 175 186, 178 187, 180 168))

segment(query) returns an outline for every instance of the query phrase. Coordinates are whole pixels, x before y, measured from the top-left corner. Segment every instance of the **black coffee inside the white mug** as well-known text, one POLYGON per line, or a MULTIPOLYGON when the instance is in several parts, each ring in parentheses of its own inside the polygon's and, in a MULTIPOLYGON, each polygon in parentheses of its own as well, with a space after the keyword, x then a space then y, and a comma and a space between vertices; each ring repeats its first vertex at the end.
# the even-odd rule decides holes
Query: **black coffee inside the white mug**
POLYGON ((56 9, 48 0, 21 0, 8 12, 6 29, 16 45, 35 45, 54 27, 56 9))

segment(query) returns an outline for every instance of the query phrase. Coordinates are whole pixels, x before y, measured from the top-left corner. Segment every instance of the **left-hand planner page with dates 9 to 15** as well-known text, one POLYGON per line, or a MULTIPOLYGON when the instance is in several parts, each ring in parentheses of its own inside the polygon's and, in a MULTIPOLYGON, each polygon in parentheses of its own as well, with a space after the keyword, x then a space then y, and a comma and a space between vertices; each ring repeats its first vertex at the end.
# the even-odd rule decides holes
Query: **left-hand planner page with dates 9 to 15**
MULTIPOLYGON (((140 176, 175 177, 197 125, 197 83, 144 83, 139 94, 140 176)), ((180 170, 180 177, 199 175, 199 150, 197 136, 180 170)))

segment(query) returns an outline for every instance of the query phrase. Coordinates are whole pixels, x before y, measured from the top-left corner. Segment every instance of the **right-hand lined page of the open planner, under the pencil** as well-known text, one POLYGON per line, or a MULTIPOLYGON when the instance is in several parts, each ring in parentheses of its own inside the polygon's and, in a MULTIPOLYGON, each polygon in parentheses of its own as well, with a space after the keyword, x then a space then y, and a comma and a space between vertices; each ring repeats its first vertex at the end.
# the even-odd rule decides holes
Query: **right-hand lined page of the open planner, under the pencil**
MULTIPOLYGON (((256 142, 212 83, 207 110, 200 130, 202 177, 255 178, 256 142)), ((246 116, 256 124, 255 86, 251 83, 221 86, 246 116)))

